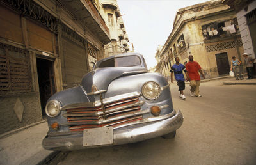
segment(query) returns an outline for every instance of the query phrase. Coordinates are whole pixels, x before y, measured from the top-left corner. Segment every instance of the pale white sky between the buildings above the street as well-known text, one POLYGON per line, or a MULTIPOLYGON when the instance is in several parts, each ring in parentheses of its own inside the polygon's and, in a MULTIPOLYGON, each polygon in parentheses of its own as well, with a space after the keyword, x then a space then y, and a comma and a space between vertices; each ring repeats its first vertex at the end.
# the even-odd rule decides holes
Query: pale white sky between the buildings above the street
POLYGON ((117 3, 134 52, 144 56, 149 68, 156 66, 157 47, 164 45, 172 32, 177 10, 205 1, 117 0, 117 3))

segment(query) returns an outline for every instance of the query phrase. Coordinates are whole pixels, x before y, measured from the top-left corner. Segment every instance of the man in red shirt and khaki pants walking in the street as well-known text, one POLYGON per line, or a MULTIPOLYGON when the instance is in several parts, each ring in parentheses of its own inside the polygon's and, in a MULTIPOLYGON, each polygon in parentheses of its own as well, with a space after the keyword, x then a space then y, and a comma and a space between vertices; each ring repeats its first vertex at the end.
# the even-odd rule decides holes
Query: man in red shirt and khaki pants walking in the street
POLYGON ((200 72, 202 77, 205 79, 204 74, 201 70, 200 65, 196 61, 193 61, 194 57, 192 55, 189 55, 188 59, 189 59, 189 62, 186 64, 186 70, 187 70, 186 80, 190 81, 190 86, 191 86, 190 95, 195 97, 202 97, 202 95, 200 95, 199 93, 200 75, 198 74, 198 72, 200 72))

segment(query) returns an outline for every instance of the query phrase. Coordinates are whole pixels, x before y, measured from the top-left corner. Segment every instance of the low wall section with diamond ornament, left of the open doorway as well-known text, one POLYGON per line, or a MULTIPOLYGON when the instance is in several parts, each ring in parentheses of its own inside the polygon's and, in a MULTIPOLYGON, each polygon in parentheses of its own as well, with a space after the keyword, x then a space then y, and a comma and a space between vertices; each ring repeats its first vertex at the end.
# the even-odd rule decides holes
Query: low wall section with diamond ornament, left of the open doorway
POLYGON ((0 97, 0 134, 42 120, 38 93, 0 97))

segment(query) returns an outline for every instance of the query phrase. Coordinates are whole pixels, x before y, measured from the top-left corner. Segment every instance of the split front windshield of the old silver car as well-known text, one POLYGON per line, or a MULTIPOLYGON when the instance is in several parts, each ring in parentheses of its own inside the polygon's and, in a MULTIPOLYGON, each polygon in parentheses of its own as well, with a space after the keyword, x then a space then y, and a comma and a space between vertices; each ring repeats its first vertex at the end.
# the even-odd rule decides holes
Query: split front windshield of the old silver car
POLYGON ((122 56, 102 61, 99 67, 132 67, 140 64, 141 61, 138 56, 122 56))

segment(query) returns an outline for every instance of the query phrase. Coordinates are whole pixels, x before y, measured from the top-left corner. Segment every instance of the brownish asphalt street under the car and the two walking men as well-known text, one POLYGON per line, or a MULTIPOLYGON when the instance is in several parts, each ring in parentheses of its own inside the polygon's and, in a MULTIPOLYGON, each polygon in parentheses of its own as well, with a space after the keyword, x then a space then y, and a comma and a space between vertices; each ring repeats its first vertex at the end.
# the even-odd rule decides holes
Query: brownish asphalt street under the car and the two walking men
POLYGON ((256 86, 201 83, 201 98, 179 98, 170 84, 173 105, 184 115, 175 139, 70 152, 59 164, 256 164, 256 86))

